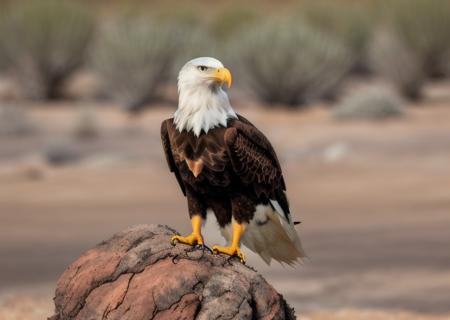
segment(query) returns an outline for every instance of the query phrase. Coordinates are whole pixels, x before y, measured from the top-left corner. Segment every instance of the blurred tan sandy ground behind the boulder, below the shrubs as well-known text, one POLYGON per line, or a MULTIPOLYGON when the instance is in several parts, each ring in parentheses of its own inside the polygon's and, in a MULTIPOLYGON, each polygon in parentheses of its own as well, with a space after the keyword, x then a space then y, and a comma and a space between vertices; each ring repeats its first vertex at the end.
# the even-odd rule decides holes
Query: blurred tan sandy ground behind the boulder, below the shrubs
MULTIPOLYGON (((310 259, 255 266, 302 319, 449 319, 450 106, 441 99, 381 123, 241 109, 273 142, 310 259), (338 311, 336 311, 338 310, 338 311), (447 316, 446 316, 447 315, 447 316)), ((38 133, 0 136, 0 319, 42 319, 54 283, 89 247, 127 226, 188 231, 161 153, 155 108, 130 120, 97 106, 98 138, 73 137, 76 108, 32 108, 38 133), (49 144, 81 159, 51 167, 49 144)), ((209 219, 209 244, 222 241, 209 219)))

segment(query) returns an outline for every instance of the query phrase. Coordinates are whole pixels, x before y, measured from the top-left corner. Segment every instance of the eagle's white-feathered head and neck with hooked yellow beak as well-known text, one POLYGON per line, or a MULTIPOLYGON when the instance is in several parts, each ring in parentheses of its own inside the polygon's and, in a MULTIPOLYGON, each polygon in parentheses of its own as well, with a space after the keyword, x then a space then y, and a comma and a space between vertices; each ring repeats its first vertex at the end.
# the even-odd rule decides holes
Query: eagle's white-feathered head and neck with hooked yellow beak
POLYGON ((186 63, 178 75, 178 109, 174 122, 179 131, 202 131, 226 126, 236 118, 222 85, 231 86, 231 73, 217 59, 196 58, 186 63))

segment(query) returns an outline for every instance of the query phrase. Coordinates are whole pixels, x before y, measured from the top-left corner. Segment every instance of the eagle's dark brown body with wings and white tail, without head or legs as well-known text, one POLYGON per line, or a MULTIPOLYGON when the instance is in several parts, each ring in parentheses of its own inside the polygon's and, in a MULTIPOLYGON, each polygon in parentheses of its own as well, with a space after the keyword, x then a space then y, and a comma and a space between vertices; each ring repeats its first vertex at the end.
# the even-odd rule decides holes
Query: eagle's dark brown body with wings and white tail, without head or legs
POLYGON ((243 243, 270 263, 304 255, 289 213, 280 164, 267 138, 242 116, 195 135, 173 119, 161 126, 170 170, 187 198, 189 214, 214 212, 231 238, 232 220, 248 224, 243 243))

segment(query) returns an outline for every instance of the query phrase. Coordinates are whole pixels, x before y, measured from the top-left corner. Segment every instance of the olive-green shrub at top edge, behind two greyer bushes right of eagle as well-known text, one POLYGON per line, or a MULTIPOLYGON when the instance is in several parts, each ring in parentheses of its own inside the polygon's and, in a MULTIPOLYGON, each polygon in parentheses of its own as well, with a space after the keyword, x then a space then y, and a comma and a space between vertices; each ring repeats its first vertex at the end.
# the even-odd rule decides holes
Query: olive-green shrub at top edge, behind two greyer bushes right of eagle
POLYGON ((375 15, 367 3, 343 5, 334 1, 304 1, 300 15, 319 30, 337 37, 353 54, 353 70, 369 71, 367 47, 375 15))

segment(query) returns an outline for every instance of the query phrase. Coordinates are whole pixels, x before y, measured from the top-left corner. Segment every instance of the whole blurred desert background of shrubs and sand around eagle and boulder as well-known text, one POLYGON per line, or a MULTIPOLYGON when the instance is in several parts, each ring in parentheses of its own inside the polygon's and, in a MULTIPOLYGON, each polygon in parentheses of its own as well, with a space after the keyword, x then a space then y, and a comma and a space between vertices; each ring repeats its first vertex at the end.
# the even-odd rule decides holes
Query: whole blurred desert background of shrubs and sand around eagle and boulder
POLYGON ((449 0, 0 1, 0 319, 117 231, 189 231, 159 129, 197 56, 278 152, 310 260, 248 263, 300 318, 450 319, 449 0))

